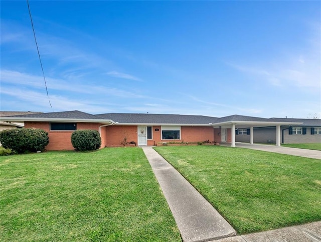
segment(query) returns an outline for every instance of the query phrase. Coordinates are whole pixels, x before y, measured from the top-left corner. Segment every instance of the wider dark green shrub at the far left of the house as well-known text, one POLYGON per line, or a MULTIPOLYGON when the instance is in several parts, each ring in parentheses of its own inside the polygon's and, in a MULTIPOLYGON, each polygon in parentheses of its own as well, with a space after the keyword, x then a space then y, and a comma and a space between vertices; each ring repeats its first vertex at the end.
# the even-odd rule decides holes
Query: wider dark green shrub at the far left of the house
POLYGON ((6 149, 13 149, 17 153, 28 153, 45 149, 49 137, 48 133, 41 129, 13 129, 1 132, 0 142, 6 149))

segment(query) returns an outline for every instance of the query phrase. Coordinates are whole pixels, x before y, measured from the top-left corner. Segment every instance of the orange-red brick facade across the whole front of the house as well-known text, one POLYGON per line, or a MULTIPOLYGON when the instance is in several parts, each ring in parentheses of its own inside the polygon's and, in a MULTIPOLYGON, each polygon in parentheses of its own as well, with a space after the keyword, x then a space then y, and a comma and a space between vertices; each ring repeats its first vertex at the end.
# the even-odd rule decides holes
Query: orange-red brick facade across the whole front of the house
MULTIPOLYGON (((73 131, 50 131, 49 122, 25 122, 26 128, 43 129, 48 132, 49 144, 46 150, 73 150, 71 134, 73 131)), ((162 140, 162 127, 152 126, 152 139, 147 140, 147 145, 155 145, 159 142, 221 142, 221 129, 213 127, 181 127, 180 140, 162 140)), ((138 143, 137 126, 103 126, 97 123, 77 123, 77 130, 97 130, 101 134, 101 148, 121 146, 124 138, 126 142, 138 143), (99 130, 100 127, 100 130, 99 130)), ((227 129, 227 142, 231 142, 231 129, 227 129)))

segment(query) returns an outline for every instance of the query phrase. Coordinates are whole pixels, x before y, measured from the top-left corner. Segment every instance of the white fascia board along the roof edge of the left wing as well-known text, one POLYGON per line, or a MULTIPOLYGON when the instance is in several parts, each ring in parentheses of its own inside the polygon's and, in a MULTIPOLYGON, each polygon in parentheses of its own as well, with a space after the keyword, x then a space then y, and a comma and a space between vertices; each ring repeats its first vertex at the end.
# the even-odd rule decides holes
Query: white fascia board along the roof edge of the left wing
POLYGON ((100 123, 115 124, 111 119, 88 119, 88 118, 51 118, 51 117, 0 117, 1 121, 9 122, 73 122, 73 123, 100 123))

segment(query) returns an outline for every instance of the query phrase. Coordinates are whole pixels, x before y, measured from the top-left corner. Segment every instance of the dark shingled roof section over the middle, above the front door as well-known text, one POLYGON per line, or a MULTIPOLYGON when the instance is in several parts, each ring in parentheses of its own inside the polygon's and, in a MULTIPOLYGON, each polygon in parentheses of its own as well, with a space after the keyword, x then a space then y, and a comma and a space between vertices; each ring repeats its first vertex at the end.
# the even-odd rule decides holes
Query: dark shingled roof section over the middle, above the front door
POLYGON ((96 116, 111 119, 120 124, 210 124, 216 117, 202 115, 152 114, 152 113, 103 113, 96 116))

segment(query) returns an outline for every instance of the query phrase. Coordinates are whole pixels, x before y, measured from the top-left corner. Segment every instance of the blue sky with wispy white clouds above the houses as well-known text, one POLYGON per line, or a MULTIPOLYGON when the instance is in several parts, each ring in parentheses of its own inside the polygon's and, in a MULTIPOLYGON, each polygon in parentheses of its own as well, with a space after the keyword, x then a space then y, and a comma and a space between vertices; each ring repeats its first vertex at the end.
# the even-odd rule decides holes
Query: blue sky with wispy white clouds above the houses
POLYGON ((3 111, 321 116, 320 1, 1 1, 3 111))

